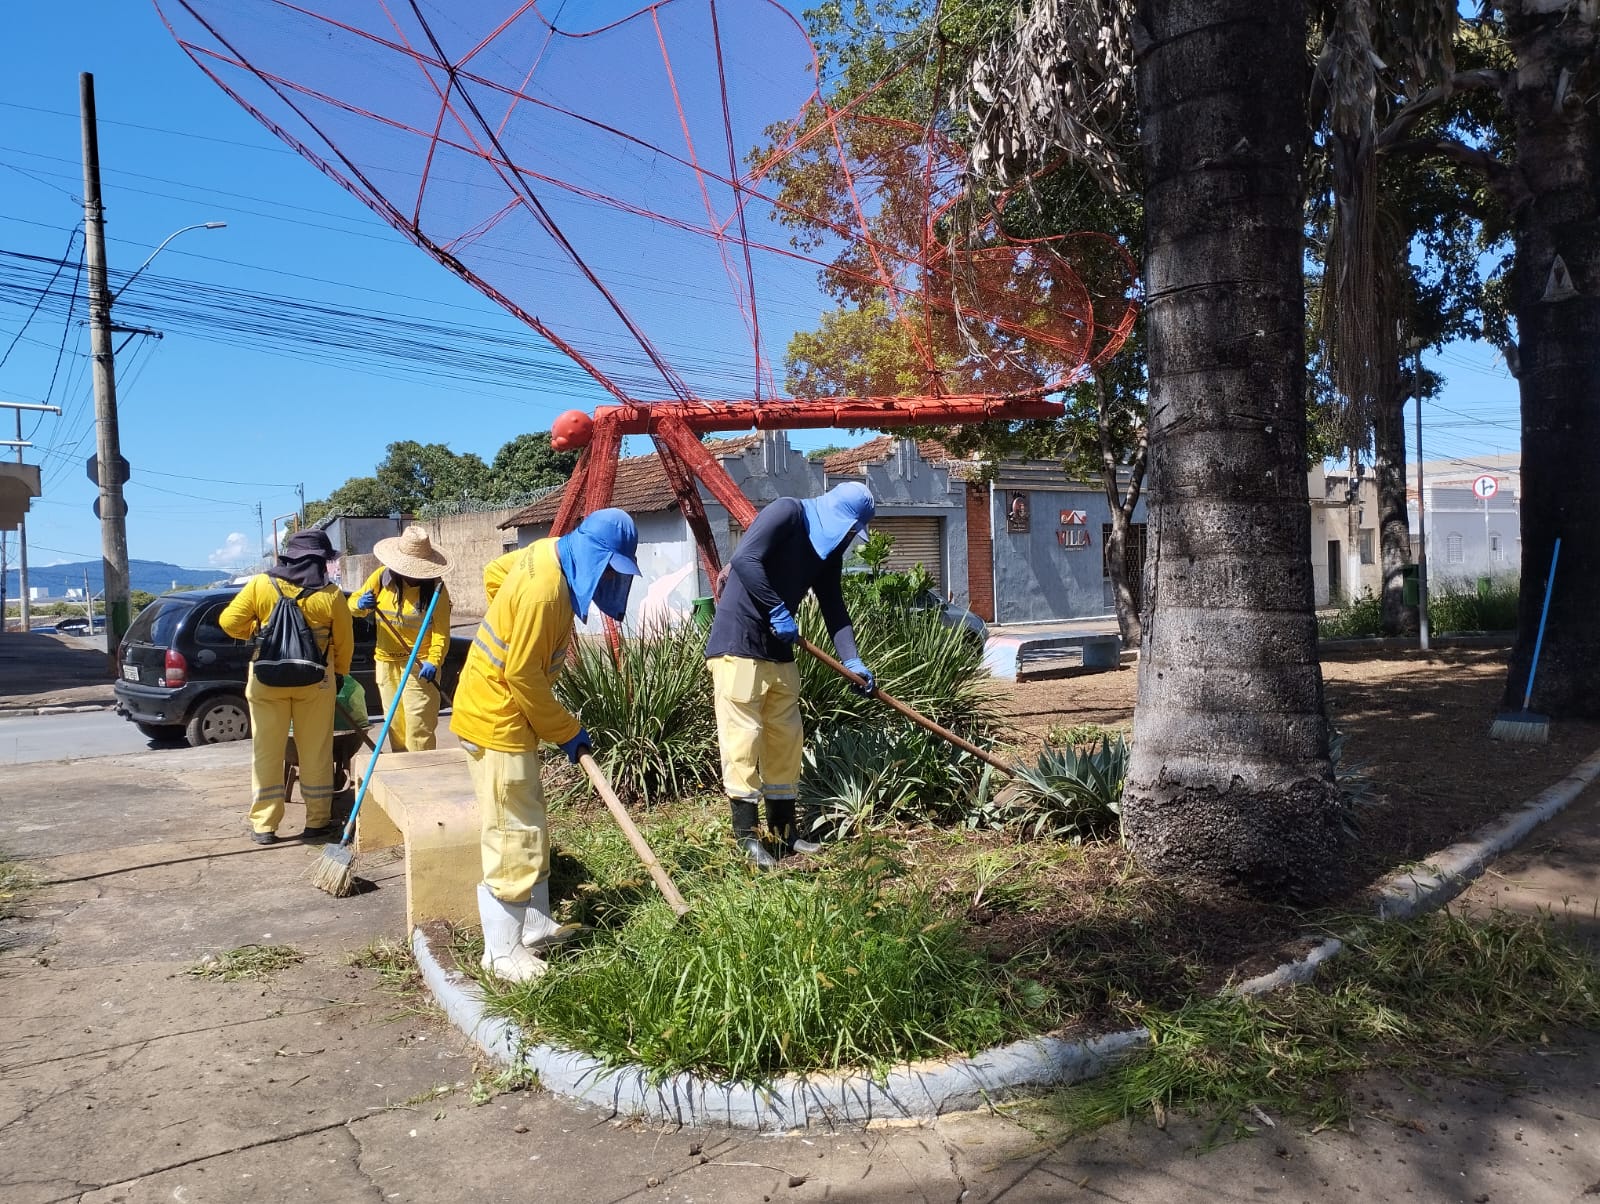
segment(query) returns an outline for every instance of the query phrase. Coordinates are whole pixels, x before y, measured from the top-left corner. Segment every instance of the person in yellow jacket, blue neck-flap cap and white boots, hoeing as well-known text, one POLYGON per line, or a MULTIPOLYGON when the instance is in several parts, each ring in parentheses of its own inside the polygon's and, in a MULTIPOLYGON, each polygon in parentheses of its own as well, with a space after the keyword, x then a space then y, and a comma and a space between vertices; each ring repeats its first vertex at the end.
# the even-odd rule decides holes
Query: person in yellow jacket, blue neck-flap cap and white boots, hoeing
POLYGON ((571 935, 550 914, 539 741, 578 764, 589 733, 552 684, 573 639, 573 618, 594 604, 621 620, 638 576, 638 530, 626 511, 603 509, 573 532, 539 540, 483 570, 488 613, 456 687, 450 730, 461 738, 478 799, 483 881, 483 969, 509 981, 544 973, 538 953, 571 935))

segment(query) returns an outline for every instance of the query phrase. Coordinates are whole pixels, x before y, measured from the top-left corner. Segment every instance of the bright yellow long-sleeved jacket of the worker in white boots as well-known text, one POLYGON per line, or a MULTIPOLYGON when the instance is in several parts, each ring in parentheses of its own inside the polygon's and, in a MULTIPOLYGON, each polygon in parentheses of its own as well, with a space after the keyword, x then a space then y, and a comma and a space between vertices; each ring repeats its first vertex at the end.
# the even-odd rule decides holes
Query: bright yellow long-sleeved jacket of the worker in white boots
POLYGON ((499 752, 571 740, 579 724, 552 690, 573 640, 573 604, 555 540, 491 560, 483 589, 490 612, 472 637, 450 730, 499 752))

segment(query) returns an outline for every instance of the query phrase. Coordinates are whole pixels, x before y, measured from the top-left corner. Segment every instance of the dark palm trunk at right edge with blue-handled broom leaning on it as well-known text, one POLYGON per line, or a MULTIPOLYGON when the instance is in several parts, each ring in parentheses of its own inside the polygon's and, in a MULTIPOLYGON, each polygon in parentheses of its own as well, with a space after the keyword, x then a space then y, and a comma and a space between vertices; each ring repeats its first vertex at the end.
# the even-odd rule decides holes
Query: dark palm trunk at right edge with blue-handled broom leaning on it
POLYGON ((1522 384, 1522 600, 1506 680, 1522 706, 1550 549, 1562 559, 1533 709, 1600 716, 1600 16, 1592 5, 1504 5, 1517 61, 1506 88, 1528 203, 1515 221, 1522 384), (1563 271, 1565 269, 1565 271, 1563 271))

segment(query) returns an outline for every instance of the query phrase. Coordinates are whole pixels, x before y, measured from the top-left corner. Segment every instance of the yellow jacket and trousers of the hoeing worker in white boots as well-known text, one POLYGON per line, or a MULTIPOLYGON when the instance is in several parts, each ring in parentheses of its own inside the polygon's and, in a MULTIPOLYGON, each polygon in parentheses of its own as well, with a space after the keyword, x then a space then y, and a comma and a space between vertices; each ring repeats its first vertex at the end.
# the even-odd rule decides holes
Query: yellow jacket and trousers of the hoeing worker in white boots
POLYGON ((488 613, 456 685, 450 730, 478 799, 483 881, 496 898, 526 903, 550 873, 539 741, 565 743, 581 727, 552 688, 573 639, 555 540, 491 560, 483 589, 488 613))

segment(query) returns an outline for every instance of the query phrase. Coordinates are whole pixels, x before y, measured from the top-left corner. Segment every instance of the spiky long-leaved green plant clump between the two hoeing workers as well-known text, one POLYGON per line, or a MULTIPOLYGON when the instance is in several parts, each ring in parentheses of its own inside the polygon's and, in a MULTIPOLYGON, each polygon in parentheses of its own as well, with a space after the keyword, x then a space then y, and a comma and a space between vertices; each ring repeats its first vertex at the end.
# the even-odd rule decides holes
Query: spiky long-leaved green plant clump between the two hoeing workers
POLYGON ((555 692, 595 738, 595 759, 626 802, 715 781, 717 720, 698 624, 648 628, 614 652, 582 640, 555 692))

